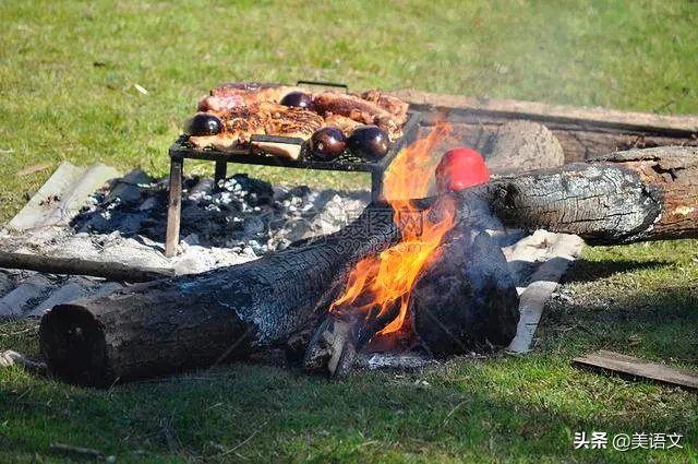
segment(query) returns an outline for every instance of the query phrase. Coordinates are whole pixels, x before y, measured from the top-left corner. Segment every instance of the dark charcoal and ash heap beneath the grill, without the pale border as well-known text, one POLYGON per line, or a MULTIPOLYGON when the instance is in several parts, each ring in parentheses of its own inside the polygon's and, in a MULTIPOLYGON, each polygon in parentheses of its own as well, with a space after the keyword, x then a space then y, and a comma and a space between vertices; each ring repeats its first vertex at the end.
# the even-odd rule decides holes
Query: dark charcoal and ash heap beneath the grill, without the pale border
MULTIPOLYGON (((134 171, 97 192, 72 222, 77 234, 142 237, 163 243, 167 227, 168 178, 152 180, 134 171)), ((237 174, 214 186, 212 179, 184 180, 182 248, 225 248, 254 259, 292 242, 332 234, 361 214, 366 191, 289 188, 237 174), (215 188, 216 187, 216 188, 215 188)))

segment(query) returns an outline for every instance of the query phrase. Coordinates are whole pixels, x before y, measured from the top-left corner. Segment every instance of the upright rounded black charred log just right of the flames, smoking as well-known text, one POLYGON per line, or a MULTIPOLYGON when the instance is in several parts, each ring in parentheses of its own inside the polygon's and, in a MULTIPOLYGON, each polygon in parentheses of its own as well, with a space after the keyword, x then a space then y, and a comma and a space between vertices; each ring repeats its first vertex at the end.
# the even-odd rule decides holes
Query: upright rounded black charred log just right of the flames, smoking
POLYGON ((506 346, 516 335, 519 297, 506 258, 486 233, 476 234, 442 246, 410 297, 413 331, 435 356, 506 346))

